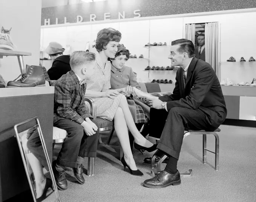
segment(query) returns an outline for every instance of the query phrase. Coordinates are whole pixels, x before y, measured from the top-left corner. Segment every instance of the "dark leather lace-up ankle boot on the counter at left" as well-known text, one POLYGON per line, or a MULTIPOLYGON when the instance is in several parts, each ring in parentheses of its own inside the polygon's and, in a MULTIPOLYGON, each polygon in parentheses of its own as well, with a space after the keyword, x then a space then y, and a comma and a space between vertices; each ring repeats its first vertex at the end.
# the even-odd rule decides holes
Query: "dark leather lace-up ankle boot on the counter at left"
POLYGON ((45 84, 44 73, 41 66, 26 65, 26 73, 22 74, 21 79, 9 81, 9 87, 36 87, 45 84))

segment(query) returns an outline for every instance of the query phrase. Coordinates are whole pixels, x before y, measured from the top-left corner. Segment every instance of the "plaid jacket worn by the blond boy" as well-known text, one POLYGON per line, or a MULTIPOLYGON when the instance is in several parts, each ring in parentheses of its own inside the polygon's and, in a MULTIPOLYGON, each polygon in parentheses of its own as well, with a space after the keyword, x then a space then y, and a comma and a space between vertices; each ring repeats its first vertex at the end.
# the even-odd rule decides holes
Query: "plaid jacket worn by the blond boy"
POLYGON ((92 118, 85 108, 86 84, 82 86, 79 84, 73 70, 61 76, 52 85, 55 87, 53 123, 67 118, 81 124, 85 118, 92 118))

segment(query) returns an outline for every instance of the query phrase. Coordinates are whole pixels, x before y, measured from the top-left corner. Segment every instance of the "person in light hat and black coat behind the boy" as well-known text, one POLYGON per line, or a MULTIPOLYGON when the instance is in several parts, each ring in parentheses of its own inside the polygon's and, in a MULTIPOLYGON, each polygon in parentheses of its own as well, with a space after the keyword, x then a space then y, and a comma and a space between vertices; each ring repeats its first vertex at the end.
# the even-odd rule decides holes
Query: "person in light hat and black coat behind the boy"
POLYGON ((57 42, 51 42, 45 52, 53 60, 52 67, 47 71, 50 80, 58 80, 62 75, 71 70, 69 55, 63 55, 64 48, 57 42))

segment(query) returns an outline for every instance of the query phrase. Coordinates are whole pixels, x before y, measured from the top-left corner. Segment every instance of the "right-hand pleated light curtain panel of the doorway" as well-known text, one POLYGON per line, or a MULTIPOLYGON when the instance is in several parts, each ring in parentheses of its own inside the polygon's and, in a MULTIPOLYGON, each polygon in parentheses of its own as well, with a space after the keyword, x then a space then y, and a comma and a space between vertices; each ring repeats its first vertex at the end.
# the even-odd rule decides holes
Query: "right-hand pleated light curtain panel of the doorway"
POLYGON ((219 66, 219 23, 205 24, 205 61, 214 69, 218 79, 220 79, 219 66))

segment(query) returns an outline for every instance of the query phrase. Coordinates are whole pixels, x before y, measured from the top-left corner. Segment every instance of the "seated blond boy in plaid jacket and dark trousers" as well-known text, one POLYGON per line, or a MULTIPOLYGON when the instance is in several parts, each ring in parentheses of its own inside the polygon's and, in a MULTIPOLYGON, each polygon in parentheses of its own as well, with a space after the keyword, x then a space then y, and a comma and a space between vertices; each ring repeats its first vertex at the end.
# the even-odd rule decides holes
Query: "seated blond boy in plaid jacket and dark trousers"
POLYGON ((55 105, 53 126, 67 131, 57 160, 52 163, 57 187, 67 188, 66 167, 72 167, 76 180, 84 184, 82 175, 84 157, 96 157, 99 124, 85 108, 85 80, 94 72, 95 55, 75 51, 70 58, 71 71, 53 83, 55 105))

